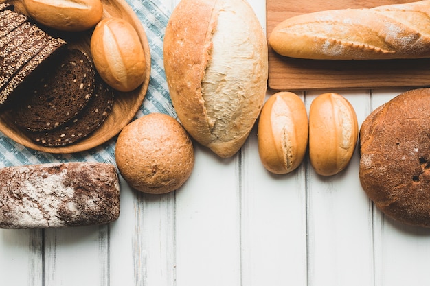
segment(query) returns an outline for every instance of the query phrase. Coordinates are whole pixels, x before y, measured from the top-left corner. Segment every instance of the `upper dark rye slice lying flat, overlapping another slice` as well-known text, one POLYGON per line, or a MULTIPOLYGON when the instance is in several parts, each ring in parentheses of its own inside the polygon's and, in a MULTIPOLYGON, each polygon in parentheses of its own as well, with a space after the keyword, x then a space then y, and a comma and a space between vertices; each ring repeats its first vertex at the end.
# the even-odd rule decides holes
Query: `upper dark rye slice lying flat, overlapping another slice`
POLYGON ((16 102, 15 122, 30 131, 51 130, 73 119, 87 106, 94 92, 95 71, 90 58, 68 49, 60 62, 52 62, 31 82, 16 102))

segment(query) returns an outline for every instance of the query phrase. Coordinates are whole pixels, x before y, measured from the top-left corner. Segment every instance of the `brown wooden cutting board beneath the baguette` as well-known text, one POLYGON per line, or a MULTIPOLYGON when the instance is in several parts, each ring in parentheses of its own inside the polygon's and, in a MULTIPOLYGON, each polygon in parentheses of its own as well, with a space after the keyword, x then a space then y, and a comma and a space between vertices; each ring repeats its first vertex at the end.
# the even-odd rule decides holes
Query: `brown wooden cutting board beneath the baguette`
MULTIPOLYGON (((291 16, 321 10, 372 8, 405 0, 267 0, 267 36, 291 16)), ((303 60, 279 56, 269 46, 269 88, 275 91, 386 88, 430 85, 430 59, 303 60)))

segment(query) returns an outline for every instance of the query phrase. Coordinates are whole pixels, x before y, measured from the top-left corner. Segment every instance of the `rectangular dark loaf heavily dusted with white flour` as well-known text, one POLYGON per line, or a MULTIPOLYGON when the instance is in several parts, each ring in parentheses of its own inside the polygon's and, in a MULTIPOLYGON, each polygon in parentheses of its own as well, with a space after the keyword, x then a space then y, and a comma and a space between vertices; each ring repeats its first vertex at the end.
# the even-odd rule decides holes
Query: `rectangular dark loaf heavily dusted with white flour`
POLYGON ((47 163, 0 169, 0 228, 58 228, 112 222, 120 184, 110 163, 47 163))

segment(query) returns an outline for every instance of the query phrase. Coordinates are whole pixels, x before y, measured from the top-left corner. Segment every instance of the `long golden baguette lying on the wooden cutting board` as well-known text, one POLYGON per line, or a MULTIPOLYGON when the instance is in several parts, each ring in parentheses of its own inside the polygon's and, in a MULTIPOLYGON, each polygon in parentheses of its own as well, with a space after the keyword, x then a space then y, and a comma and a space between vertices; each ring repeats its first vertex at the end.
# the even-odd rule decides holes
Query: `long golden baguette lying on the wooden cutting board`
POLYGON ((292 58, 427 58, 430 1, 294 16, 273 29, 269 44, 275 52, 292 58))

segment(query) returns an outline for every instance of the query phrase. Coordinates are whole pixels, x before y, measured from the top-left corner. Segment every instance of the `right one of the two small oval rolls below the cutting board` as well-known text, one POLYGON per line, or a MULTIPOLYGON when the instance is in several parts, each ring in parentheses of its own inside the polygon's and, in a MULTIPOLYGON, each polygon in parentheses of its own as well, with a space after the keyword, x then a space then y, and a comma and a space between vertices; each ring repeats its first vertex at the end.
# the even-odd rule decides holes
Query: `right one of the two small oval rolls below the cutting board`
POLYGON ((316 97, 309 110, 309 158, 317 174, 331 176, 350 163, 359 126, 354 108, 337 93, 316 97))

